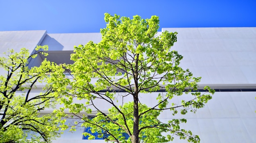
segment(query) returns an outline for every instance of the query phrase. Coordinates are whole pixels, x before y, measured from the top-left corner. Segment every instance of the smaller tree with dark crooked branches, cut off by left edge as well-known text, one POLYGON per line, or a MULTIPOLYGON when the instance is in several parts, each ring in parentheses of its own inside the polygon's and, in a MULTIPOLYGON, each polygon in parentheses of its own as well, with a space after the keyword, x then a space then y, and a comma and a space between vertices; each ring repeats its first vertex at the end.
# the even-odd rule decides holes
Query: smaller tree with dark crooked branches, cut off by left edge
POLYGON ((47 53, 47 46, 36 47, 31 54, 25 48, 20 52, 9 50, 0 58, 0 67, 5 71, 0 75, 0 143, 50 142, 58 137, 58 121, 55 115, 39 115, 44 108, 54 107, 58 95, 54 93, 50 82, 41 93, 33 93, 36 85, 47 83, 49 75, 63 72, 62 67, 46 61, 39 67, 28 67, 29 60, 37 54, 47 53), (31 134, 31 139, 26 137, 31 134))

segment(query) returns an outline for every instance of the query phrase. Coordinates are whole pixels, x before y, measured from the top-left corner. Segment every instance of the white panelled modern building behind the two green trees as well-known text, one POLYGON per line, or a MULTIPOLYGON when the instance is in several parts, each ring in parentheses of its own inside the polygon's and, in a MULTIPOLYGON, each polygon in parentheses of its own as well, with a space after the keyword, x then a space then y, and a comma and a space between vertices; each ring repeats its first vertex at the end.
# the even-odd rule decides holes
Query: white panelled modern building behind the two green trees
MULTIPOLYGON (((184 56, 180 65, 195 77, 202 77, 199 88, 209 85, 216 89, 213 99, 197 113, 178 115, 183 124, 201 143, 256 143, 256 28, 163 28, 177 31, 173 49, 184 56)), ((159 32, 160 33, 160 32, 159 32)), ((72 63, 74 45, 101 41, 100 33, 47 34, 45 30, 1 31, 0 49, 19 51, 25 47, 34 52, 36 45, 49 45, 47 59, 56 63, 72 63)), ((43 57, 42 57, 43 58, 43 57)), ((31 61, 32 65, 40 61, 31 61)), ((1 71, 0 74, 2 74, 1 71)), ((150 102, 149 99, 147 100, 150 102)), ((44 111, 52 112, 51 109, 44 111)), ((172 116, 161 114, 159 119, 172 116)), ((98 143, 83 140, 83 130, 65 133, 53 143, 98 143)), ((186 140, 175 139, 175 143, 186 140)))

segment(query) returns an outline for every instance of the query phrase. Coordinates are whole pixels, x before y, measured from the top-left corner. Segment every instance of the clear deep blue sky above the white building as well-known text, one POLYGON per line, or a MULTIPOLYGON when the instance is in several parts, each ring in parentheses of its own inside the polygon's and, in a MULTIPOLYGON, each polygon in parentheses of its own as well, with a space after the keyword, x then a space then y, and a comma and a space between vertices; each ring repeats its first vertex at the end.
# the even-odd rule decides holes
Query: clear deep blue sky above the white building
POLYGON ((104 13, 167 27, 256 27, 256 0, 0 0, 0 31, 99 32, 104 13))

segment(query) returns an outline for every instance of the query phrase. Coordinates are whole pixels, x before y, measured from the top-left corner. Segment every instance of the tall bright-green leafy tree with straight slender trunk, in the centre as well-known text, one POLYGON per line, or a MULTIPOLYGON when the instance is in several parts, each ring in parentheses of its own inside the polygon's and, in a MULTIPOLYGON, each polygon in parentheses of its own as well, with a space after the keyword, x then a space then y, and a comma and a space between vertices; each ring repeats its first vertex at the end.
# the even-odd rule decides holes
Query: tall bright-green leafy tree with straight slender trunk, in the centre
POLYGON ((81 126, 90 127, 90 132, 84 133, 89 139, 94 139, 93 133, 97 132, 98 137, 117 143, 161 143, 172 141, 175 135, 199 142, 197 135, 180 129, 179 124, 186 119, 157 119, 163 111, 170 111, 173 117, 178 112, 195 112, 214 93, 209 87, 204 88, 209 94, 191 92, 197 91, 200 78, 179 67, 182 56, 171 50, 177 32, 165 31, 155 36, 159 28, 157 16, 144 20, 138 15, 130 19, 106 13, 105 21, 101 42, 90 41, 75 47, 71 56, 74 64, 65 65, 72 80, 55 85, 66 95, 61 99, 64 107, 56 111, 57 116, 81 119, 81 126), (144 103, 143 99, 149 96, 144 93, 156 97, 155 105, 144 103), (193 98, 172 103, 174 96, 181 95, 193 98), (74 103, 75 99, 86 102, 74 103), (106 113, 99 104, 112 107, 106 113), (65 113, 65 108, 71 115, 65 113), (96 115, 91 119, 87 116, 90 114, 96 115), (164 132, 168 135, 164 136, 164 132))

